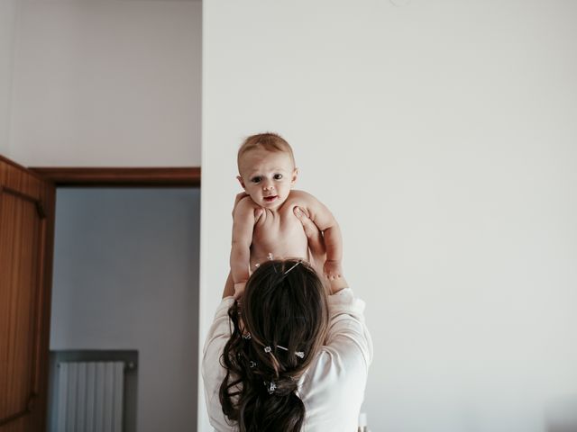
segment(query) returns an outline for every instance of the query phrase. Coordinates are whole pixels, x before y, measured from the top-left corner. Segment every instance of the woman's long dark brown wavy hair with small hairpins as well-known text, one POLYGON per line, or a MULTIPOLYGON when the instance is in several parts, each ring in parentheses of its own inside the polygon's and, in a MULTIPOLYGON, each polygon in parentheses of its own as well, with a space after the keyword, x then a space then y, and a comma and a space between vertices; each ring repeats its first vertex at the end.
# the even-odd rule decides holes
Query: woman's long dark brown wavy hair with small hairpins
POLYGON ((220 401, 241 432, 300 432, 305 405, 298 379, 315 360, 328 325, 326 294, 315 270, 295 259, 262 263, 228 315, 220 401))

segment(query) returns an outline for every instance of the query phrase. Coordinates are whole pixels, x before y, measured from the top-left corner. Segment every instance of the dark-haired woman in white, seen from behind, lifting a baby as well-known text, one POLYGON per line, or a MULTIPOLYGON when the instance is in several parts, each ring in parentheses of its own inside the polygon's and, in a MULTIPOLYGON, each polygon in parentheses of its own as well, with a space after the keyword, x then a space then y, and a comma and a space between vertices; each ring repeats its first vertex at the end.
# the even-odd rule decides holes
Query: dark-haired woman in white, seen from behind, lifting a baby
MULTIPOLYGON (((295 214, 315 261, 324 262, 322 235, 295 214)), ((372 360, 364 302, 343 278, 326 285, 312 267, 287 259, 261 264, 238 302, 225 287, 202 365, 215 430, 356 430, 372 360)))

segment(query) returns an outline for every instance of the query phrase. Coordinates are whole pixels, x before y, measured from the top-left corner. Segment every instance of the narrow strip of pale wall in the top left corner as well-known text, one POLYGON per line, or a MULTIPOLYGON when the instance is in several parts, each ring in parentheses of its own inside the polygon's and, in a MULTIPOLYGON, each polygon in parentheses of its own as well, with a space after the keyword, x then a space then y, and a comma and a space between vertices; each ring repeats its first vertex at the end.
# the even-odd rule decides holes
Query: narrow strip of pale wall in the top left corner
POLYGON ((16 0, 0 0, 0 155, 10 157, 10 107, 14 69, 16 0))

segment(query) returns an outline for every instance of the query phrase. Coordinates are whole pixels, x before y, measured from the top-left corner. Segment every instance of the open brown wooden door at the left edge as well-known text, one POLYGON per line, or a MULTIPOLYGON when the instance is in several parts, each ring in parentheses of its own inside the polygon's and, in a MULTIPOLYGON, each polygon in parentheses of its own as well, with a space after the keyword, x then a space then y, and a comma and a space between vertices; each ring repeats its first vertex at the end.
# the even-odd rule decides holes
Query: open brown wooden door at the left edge
POLYGON ((0 432, 46 429, 54 202, 0 156, 0 432))

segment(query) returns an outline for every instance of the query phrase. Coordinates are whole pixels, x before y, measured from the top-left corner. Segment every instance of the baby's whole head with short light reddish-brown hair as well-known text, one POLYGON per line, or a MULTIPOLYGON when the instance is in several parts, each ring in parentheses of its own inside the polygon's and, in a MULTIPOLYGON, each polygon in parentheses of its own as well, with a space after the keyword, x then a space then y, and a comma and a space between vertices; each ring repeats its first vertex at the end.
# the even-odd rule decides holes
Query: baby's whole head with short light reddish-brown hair
POLYGON ((238 150, 236 178, 252 201, 276 209, 287 200, 298 169, 289 143, 276 133, 261 133, 244 140, 238 150))

